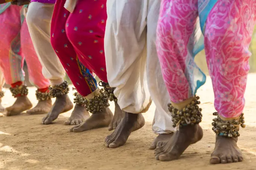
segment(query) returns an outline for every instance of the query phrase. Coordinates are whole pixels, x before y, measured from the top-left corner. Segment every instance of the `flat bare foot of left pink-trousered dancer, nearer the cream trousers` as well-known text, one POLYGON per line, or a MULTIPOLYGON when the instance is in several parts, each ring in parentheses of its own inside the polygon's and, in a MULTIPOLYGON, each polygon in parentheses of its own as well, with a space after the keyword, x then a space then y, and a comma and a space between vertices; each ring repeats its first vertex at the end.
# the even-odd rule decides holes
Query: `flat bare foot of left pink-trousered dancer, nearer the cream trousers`
POLYGON ((52 100, 38 101, 37 105, 27 111, 28 114, 45 114, 48 113, 52 108, 52 100))

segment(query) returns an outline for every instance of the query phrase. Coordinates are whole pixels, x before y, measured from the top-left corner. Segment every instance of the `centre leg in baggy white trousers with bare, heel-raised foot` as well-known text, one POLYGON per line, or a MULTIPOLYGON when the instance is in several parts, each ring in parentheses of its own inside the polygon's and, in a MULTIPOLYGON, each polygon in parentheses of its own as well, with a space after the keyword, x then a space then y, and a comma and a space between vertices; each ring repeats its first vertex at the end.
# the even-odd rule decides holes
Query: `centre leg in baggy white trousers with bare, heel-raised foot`
POLYGON ((148 0, 108 0, 105 56, 108 82, 125 117, 105 139, 116 148, 145 124, 141 113, 151 105, 146 83, 146 15, 148 0))

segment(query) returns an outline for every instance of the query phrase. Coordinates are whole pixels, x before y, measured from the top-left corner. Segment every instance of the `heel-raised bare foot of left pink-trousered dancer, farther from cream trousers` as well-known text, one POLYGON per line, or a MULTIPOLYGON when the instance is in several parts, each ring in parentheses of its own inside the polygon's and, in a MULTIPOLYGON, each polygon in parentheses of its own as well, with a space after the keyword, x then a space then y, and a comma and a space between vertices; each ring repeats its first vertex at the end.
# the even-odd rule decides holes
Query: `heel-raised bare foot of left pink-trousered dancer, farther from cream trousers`
POLYGON ((32 108, 32 106, 33 105, 27 96, 19 96, 12 106, 6 108, 6 116, 21 114, 27 109, 32 108))

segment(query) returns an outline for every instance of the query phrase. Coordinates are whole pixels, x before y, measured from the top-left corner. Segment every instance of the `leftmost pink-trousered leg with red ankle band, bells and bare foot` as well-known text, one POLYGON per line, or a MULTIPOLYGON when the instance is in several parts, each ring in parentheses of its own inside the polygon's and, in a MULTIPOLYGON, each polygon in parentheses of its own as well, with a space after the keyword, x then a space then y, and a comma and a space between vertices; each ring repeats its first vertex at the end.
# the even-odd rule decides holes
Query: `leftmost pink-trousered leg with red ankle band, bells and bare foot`
POLYGON ((11 92, 14 97, 17 97, 15 103, 6 108, 6 115, 17 115, 32 107, 32 103, 27 98, 27 88, 23 85, 24 58, 20 49, 20 10, 19 6, 9 6, 1 15, 0 21, 2 43, 0 65, 4 73, 7 84, 12 86, 11 92))

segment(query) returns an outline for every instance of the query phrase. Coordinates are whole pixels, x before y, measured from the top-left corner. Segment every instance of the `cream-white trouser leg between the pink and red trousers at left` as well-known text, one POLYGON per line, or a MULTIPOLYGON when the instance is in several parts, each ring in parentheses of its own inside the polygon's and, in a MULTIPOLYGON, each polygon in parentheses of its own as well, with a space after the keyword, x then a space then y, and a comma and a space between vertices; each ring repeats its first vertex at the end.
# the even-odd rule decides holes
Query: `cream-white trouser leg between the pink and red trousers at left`
POLYGON ((50 43, 50 25, 54 4, 32 2, 27 11, 27 25, 39 61, 43 66, 43 75, 52 85, 64 81, 66 71, 50 43))

